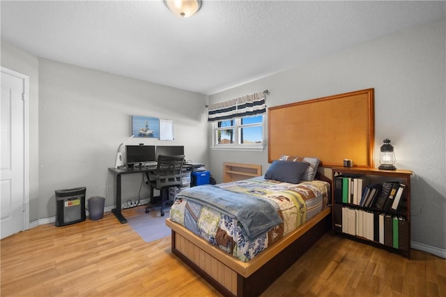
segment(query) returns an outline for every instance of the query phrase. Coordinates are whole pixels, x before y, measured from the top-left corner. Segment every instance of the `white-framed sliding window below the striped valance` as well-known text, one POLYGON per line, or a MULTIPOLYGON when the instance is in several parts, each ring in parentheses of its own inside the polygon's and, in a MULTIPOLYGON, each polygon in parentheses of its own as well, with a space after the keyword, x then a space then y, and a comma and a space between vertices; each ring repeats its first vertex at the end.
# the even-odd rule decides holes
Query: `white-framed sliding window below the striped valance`
POLYGON ((214 122, 213 148, 263 150, 263 115, 214 122))

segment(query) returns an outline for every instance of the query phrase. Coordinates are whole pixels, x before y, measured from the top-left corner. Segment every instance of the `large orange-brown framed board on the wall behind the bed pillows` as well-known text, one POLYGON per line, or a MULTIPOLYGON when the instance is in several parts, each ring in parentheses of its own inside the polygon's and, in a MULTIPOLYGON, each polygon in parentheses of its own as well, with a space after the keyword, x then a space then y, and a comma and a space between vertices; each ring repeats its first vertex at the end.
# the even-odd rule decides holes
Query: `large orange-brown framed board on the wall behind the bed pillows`
POLYGON ((321 166, 374 167, 374 89, 268 108, 268 162, 317 157, 321 166))

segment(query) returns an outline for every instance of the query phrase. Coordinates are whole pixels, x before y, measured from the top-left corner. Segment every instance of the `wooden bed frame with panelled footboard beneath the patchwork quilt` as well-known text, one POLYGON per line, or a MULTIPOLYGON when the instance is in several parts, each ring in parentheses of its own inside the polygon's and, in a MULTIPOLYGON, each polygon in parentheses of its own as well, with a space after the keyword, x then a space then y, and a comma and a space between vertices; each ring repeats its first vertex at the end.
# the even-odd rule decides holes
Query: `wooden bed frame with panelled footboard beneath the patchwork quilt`
MULTIPOLYGON (((325 176, 319 179, 330 182, 325 176)), ((331 207, 247 262, 216 248, 170 218, 166 224, 172 229, 172 252, 220 293, 259 296, 330 229, 331 207)))

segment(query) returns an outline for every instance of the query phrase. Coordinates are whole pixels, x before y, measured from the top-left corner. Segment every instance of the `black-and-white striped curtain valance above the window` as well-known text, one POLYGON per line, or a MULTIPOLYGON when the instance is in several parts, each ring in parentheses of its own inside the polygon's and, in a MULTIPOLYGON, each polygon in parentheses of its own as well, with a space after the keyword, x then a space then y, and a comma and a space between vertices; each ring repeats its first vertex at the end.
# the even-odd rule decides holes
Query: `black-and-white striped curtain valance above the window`
POLYGON ((255 116, 266 112, 264 93, 254 93, 226 102, 215 103, 208 107, 208 121, 224 121, 227 119, 255 116))

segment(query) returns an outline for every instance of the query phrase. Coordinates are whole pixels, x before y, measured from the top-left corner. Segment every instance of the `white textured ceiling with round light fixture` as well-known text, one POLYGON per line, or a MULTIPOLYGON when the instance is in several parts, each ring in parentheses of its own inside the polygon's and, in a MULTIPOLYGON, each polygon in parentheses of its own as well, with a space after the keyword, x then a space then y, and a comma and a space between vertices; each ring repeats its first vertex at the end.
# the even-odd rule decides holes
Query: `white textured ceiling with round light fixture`
POLYGON ((1 37, 39 57, 212 94, 446 15, 445 1, 1 1, 1 37))

